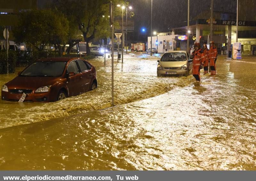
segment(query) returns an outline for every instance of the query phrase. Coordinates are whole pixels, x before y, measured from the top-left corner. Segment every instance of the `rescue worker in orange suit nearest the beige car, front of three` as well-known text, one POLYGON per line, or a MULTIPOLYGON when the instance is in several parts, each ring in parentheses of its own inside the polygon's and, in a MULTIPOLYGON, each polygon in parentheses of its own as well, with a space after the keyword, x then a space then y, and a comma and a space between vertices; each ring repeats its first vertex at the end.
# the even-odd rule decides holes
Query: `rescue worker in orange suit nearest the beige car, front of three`
POLYGON ((201 49, 200 43, 198 42, 194 44, 194 49, 195 50, 190 56, 190 58, 193 59, 192 74, 195 77, 196 82, 200 82, 200 66, 205 62, 204 51, 201 49))

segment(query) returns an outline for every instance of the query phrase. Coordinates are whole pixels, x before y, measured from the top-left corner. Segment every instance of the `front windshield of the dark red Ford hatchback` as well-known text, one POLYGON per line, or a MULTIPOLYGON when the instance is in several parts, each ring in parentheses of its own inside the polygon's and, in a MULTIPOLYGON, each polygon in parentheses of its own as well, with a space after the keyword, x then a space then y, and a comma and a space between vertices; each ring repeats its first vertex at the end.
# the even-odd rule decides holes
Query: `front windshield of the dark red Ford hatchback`
POLYGON ((60 76, 67 62, 34 62, 20 76, 55 77, 60 76))

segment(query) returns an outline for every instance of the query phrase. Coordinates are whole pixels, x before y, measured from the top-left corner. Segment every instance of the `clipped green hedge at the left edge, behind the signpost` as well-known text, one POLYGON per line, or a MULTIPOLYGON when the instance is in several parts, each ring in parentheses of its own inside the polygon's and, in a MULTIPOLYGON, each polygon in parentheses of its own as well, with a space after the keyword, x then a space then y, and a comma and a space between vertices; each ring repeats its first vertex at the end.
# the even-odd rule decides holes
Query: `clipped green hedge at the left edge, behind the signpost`
MULTIPOLYGON (((17 52, 16 51, 9 51, 8 55, 9 55, 9 57, 8 57, 9 73, 14 73, 16 62, 17 62, 17 52)), ((6 51, 1 51, 0 52, 0 74, 7 74, 6 51)))

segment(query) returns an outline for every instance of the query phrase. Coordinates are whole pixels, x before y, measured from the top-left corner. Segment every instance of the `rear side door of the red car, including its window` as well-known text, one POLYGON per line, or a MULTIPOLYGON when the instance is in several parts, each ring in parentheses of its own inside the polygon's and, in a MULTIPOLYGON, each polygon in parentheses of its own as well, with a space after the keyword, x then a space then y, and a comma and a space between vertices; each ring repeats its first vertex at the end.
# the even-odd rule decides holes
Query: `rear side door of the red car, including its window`
POLYGON ((83 89, 84 92, 91 90, 91 79, 92 79, 92 72, 91 69, 89 69, 88 66, 86 66, 86 63, 84 60, 76 60, 81 71, 82 79, 83 79, 83 89))

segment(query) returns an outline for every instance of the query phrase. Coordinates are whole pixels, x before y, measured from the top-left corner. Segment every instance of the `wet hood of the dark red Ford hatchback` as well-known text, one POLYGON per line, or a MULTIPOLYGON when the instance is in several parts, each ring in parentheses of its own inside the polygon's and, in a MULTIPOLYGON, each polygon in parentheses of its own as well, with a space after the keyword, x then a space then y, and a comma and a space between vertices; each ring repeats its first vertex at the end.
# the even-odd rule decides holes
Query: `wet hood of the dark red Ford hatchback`
POLYGON ((60 81, 60 77, 23 77, 17 76, 10 82, 6 83, 8 89, 32 89, 53 85, 60 81))

